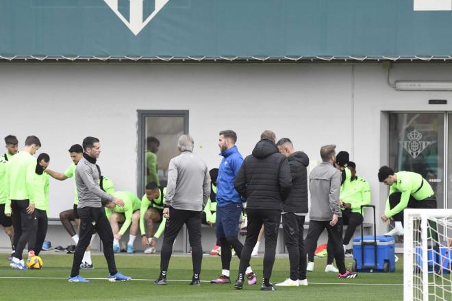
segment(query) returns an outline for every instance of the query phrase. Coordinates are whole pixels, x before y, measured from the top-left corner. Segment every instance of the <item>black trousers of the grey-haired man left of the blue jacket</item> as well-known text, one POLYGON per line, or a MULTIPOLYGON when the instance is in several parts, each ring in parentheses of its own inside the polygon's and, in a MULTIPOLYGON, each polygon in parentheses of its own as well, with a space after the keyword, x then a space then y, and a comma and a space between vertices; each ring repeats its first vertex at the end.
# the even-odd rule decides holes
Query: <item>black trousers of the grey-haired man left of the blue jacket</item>
POLYGON ((203 261, 203 246, 201 245, 201 211, 181 210, 169 208, 170 217, 166 219, 165 232, 160 252, 160 270, 167 271, 171 254, 173 254, 173 243, 182 226, 186 224, 188 230, 188 241, 192 247, 193 274, 201 274, 201 263, 203 261))

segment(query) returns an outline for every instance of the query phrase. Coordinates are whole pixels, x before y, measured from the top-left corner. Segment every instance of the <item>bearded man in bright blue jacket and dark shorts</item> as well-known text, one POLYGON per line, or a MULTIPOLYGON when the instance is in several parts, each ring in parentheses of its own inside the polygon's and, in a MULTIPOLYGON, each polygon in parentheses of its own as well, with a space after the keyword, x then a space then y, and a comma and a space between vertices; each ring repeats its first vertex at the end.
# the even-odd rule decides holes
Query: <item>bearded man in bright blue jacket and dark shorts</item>
MULTIPOLYGON (((211 283, 231 283, 229 278, 229 268, 231 266, 231 248, 236 250, 238 258, 242 254, 243 245, 238 240, 238 224, 242 214, 242 197, 234 188, 234 180, 240 167, 243 157, 236 147, 237 134, 232 130, 220 132, 218 147, 221 150, 221 164, 216 179, 216 239, 221 242, 221 275, 219 278, 210 281, 211 283)), ((246 270, 248 284, 256 283, 256 276, 251 267, 246 270)))

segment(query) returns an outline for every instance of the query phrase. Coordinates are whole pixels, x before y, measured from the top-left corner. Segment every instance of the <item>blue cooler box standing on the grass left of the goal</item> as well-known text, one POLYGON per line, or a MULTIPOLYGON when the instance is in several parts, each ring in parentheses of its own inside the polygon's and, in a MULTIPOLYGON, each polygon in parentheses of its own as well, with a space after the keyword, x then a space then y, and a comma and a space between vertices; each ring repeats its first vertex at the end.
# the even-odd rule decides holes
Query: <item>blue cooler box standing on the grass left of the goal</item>
MULTIPOLYGON (((373 243, 374 236, 364 237, 364 243, 373 243)), ((375 265, 375 246, 373 244, 361 245, 361 237, 353 239, 353 258, 355 259, 356 269, 360 272, 384 272, 385 263, 389 265, 389 272, 395 271, 394 261, 394 237, 377 236, 377 270, 375 265), (364 260, 362 258, 362 247, 364 247, 364 260)))

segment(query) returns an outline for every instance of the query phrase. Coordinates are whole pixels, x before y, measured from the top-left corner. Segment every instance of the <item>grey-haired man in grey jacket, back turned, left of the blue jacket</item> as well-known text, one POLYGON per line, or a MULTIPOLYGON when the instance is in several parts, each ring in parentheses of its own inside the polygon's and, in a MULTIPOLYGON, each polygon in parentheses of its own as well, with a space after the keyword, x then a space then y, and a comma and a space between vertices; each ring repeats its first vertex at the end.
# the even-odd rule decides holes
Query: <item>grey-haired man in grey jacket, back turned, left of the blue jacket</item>
POLYGON ((184 224, 187 226, 188 241, 192 248, 193 277, 190 285, 201 283, 201 217, 210 196, 210 175, 205 162, 194 156, 193 146, 190 135, 180 136, 177 148, 181 154, 169 162, 163 209, 166 228, 160 255, 160 276, 155 280, 155 285, 166 285, 166 272, 173 252, 173 243, 184 224))

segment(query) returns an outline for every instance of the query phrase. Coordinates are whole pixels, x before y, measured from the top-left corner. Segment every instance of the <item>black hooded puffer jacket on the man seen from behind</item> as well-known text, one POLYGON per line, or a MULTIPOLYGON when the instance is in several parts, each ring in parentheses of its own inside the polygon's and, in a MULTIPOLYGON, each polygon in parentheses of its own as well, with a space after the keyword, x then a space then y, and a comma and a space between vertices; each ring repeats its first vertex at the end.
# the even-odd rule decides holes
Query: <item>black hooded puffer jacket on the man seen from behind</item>
POLYGON ((247 200, 247 209, 282 211, 292 186, 286 156, 279 153, 272 141, 259 141, 253 153, 244 159, 234 186, 247 200))

